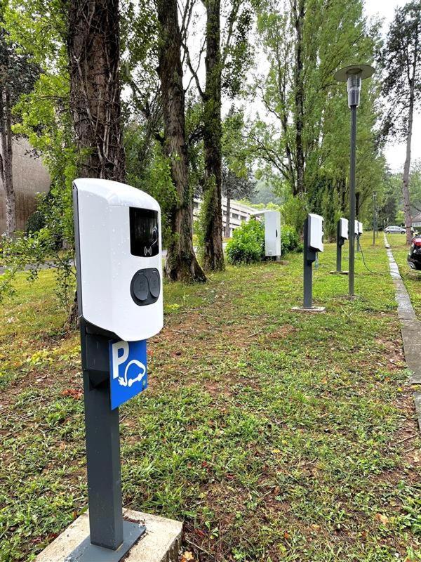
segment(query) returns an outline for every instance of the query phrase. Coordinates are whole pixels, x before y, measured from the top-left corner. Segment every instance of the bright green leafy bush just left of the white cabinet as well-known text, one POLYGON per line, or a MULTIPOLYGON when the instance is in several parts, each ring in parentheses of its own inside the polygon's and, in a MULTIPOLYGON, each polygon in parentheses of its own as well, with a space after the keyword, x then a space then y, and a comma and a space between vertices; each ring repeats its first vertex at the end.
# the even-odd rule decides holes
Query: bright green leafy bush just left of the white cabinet
POLYGON ((260 221, 244 222, 227 243, 229 263, 253 263, 265 257, 265 226, 260 221))

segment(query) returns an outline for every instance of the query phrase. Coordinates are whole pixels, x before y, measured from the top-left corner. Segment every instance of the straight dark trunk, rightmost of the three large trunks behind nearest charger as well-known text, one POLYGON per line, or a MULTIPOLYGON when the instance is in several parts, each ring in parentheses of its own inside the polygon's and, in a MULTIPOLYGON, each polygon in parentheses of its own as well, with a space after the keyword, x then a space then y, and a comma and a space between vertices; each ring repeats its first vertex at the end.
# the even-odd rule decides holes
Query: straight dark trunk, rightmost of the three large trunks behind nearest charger
POLYGON ((203 265, 205 270, 224 269, 222 250, 222 124, 220 0, 203 0, 206 6, 206 88, 204 92, 203 145, 205 150, 205 206, 203 265))

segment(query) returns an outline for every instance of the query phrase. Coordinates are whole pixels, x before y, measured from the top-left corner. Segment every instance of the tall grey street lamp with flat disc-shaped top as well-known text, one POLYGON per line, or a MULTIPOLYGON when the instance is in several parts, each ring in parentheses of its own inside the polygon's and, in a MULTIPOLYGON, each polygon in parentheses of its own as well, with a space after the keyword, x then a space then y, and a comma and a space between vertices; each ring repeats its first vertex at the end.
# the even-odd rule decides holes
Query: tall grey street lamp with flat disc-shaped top
POLYGON ((356 108, 359 106, 361 80, 373 75, 370 65, 352 65, 335 72, 335 79, 347 82, 348 106, 351 110, 351 155, 349 165, 349 296, 354 296, 355 275, 355 153, 356 153, 356 108))

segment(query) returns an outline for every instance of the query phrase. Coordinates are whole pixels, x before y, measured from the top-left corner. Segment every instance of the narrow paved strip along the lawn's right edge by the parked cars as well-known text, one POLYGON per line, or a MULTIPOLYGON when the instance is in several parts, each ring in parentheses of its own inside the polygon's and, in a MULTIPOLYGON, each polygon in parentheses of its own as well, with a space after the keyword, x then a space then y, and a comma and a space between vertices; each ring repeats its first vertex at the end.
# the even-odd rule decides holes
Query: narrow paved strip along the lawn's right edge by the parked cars
MULTIPOLYGON (((406 365, 411 372, 409 384, 421 384, 421 323, 417 320, 415 311, 406 290, 399 268, 392 254, 385 236, 387 257, 389 258, 390 275, 394 280, 396 301, 398 303, 398 318, 401 322, 401 334, 406 365)), ((421 393, 414 392, 415 410, 417 411, 418 425, 421 430, 421 393)))

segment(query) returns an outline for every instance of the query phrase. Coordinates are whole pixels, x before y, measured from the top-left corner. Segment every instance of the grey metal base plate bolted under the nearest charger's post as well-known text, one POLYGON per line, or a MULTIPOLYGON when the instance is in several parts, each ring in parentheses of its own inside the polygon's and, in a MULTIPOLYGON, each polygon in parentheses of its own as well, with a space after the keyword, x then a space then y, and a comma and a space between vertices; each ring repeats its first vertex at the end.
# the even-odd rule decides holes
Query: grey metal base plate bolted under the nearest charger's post
POLYGON ((116 550, 105 549, 91 544, 91 538, 86 537, 79 547, 76 547, 65 558, 65 562, 119 562, 126 556, 142 535, 146 532, 146 527, 139 523, 123 521, 123 544, 116 550))

